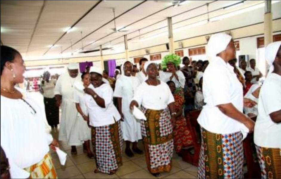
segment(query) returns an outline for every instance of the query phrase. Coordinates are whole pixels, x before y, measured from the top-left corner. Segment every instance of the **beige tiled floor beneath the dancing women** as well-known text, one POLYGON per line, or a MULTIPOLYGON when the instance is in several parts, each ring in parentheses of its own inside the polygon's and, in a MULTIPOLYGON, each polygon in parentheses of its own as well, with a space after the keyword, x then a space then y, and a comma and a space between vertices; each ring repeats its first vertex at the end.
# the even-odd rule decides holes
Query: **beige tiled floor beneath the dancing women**
MULTIPOLYGON (((52 132, 57 139, 58 132, 52 132)), ((87 158, 83 153, 82 147, 78 147, 78 155, 72 156, 71 147, 65 142, 59 142, 60 148, 67 153, 67 162, 61 166, 56 153, 51 152, 58 178, 155 178, 146 169, 144 155, 135 155, 128 158, 123 154, 123 166, 118 169, 115 175, 95 174, 95 161, 87 158)), ((125 146, 125 145, 124 145, 125 146)), ((139 142, 139 148, 143 150, 142 142, 139 142)), ((196 178, 197 167, 188 164, 174 155, 173 168, 169 173, 162 173, 160 178, 196 178)))

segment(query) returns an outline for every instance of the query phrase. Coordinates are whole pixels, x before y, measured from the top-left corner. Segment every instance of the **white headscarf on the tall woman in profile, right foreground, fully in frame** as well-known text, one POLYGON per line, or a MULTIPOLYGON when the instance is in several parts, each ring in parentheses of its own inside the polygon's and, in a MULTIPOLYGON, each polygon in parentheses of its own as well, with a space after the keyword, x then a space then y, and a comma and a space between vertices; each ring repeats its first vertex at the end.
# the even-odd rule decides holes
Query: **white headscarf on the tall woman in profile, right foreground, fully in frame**
POLYGON ((207 44, 207 55, 214 59, 217 54, 224 51, 232 37, 226 33, 218 33, 211 36, 207 44))

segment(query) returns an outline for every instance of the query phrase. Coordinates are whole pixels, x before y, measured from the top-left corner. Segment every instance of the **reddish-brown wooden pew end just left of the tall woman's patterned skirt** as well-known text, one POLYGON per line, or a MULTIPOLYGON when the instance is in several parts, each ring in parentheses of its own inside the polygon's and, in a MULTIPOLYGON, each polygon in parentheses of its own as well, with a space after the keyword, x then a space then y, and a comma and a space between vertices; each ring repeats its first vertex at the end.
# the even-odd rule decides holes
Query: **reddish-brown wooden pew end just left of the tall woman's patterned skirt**
POLYGON ((197 118, 199 117, 200 112, 201 110, 191 111, 186 115, 186 123, 188 128, 190 129, 193 143, 191 149, 182 150, 183 161, 191 163, 195 166, 198 166, 201 147, 200 135, 198 135, 197 133, 197 129, 200 129, 200 125, 197 122, 197 118), (194 149, 194 153, 192 153, 192 149, 194 149))

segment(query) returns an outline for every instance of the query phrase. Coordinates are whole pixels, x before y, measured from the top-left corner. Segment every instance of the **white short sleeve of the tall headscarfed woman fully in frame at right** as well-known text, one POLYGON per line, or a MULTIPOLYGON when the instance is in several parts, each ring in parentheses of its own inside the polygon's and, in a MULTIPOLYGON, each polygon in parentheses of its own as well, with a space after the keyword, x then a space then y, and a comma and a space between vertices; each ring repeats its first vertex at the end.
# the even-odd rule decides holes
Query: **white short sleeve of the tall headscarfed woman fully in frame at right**
POLYGON ((230 79, 225 70, 213 70, 211 78, 207 77, 204 79, 206 84, 208 84, 214 106, 231 103, 230 79))

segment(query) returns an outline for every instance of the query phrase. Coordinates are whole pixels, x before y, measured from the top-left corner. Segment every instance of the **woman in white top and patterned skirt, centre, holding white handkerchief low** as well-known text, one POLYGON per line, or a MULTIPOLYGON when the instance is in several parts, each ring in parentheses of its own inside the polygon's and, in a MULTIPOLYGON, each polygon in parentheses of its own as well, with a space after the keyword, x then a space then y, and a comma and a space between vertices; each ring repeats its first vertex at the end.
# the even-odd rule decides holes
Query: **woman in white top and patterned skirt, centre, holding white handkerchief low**
POLYGON ((175 123, 174 97, 169 86, 157 79, 158 67, 154 62, 146 62, 144 70, 148 79, 135 91, 130 104, 142 107, 147 120, 141 120, 146 163, 152 175, 172 169, 173 125, 175 123))

